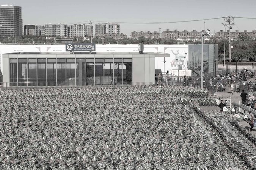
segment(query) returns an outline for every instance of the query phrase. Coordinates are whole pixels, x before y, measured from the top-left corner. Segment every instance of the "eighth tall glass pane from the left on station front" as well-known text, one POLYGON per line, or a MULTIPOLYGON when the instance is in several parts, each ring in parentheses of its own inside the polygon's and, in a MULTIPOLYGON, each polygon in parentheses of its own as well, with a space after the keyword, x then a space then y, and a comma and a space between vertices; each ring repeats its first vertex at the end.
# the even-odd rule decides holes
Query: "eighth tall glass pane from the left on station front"
POLYGON ((85 59, 77 59, 76 82, 77 85, 85 85, 85 59))

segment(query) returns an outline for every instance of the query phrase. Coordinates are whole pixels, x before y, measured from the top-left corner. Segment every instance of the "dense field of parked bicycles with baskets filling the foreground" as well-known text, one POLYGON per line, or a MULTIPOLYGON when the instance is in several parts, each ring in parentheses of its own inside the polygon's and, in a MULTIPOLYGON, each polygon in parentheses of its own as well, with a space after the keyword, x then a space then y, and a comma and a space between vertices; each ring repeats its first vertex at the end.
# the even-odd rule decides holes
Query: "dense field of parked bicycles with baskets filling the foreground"
POLYGON ((0 96, 3 170, 256 168, 253 137, 218 110, 200 111, 200 103, 215 101, 199 88, 49 88, 0 96))

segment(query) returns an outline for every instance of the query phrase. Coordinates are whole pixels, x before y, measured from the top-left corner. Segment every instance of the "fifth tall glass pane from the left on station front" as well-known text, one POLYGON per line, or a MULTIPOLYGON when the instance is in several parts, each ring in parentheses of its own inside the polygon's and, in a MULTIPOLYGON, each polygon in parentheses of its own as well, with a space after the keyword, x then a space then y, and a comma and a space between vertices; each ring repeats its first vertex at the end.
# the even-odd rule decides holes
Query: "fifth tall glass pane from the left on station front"
POLYGON ((56 59, 47 59, 48 86, 56 86, 56 59))

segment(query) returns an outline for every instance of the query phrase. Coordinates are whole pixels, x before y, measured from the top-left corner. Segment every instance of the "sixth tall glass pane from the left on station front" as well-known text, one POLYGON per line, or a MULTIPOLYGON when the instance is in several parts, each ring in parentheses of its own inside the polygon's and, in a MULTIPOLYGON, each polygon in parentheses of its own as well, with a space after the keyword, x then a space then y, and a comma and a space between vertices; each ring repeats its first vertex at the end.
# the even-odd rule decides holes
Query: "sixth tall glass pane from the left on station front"
POLYGON ((66 58, 57 59, 57 85, 66 85, 66 58))

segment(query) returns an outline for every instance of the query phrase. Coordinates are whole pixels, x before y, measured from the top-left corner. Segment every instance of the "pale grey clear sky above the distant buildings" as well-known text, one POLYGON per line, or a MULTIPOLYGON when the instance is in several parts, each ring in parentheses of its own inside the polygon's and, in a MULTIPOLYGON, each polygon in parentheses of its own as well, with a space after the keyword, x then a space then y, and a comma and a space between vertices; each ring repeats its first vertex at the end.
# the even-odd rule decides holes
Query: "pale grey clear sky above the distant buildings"
MULTIPOLYGON (((120 24, 120 33, 133 31, 201 31, 210 33, 224 30, 222 17, 256 18, 255 0, 1 0, 1 5, 22 7, 23 25, 45 23, 95 22, 176 22, 212 19, 196 22, 157 23, 145 25, 120 24), (204 24, 205 22, 205 24, 204 24)), ((234 19, 231 31, 256 29, 256 19, 234 19)), ((227 28, 226 28, 227 29, 227 28)))

